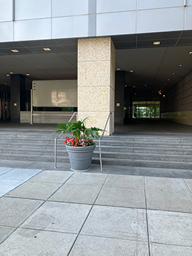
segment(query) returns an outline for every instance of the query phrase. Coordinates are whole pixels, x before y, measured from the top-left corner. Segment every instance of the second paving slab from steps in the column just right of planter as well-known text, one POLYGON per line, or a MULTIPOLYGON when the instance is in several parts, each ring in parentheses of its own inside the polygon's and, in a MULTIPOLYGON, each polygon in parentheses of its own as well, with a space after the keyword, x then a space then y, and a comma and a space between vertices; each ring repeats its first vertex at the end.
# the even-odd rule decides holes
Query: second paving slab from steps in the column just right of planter
POLYGON ((129 208, 146 208, 144 189, 103 187, 95 204, 129 208))

